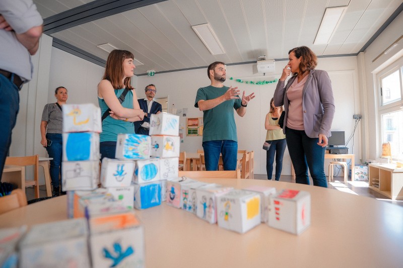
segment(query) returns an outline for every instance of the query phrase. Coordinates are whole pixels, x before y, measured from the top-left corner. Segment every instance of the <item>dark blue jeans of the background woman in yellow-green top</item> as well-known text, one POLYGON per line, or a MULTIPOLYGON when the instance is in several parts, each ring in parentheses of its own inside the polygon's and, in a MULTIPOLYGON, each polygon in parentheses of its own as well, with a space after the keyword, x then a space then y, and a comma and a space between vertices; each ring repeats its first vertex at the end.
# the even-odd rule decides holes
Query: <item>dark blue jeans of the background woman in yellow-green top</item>
MULTIPOLYGON (((270 141, 267 141, 270 142, 270 141)), ((276 181, 280 181, 281 170, 283 169, 283 156, 286 150, 286 139, 272 140, 270 148, 266 152, 266 171, 268 180, 272 180, 274 155, 276 154, 276 181)))

